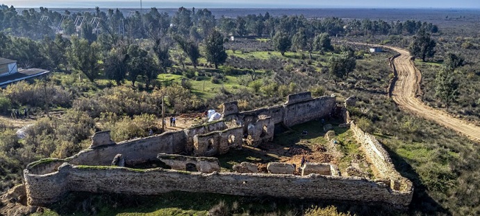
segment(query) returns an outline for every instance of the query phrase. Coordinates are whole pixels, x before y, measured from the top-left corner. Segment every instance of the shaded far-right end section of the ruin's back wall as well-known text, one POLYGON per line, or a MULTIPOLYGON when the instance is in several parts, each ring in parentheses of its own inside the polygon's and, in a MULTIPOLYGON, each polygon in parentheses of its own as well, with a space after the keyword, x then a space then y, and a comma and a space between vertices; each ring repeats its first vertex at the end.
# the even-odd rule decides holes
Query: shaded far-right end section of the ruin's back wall
POLYGON ((300 98, 297 103, 285 103, 283 124, 294 126, 313 119, 328 117, 336 107, 335 97, 300 98))

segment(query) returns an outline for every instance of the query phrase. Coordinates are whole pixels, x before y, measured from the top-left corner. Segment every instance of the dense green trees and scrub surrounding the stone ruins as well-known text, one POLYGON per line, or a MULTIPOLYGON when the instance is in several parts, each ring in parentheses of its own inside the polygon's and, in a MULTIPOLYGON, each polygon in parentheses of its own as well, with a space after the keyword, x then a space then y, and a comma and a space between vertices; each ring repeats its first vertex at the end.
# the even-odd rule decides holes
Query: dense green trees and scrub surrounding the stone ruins
MULTIPOLYGON (((440 108, 448 104, 449 112, 478 122, 477 38, 463 38, 449 29, 440 32, 433 24, 412 20, 306 19, 268 13, 231 18, 187 8, 179 8, 172 17, 156 8, 129 17, 119 10, 99 8, 93 13, 65 14, 72 19, 66 19, 61 34, 55 34, 51 23, 60 22, 60 13, 47 8, 17 12, 13 7, 0 7, 0 57, 18 60, 19 67, 54 72, 0 92, 3 115, 10 117, 12 109, 24 108, 33 114, 28 120, 33 125, 26 128, 22 139, 10 119, 0 122, 1 191, 20 183, 26 164, 40 158, 65 158, 88 147, 94 131, 109 129, 115 141, 146 136, 150 128, 162 132, 158 125, 162 97, 167 114, 176 115, 217 108, 232 100, 239 101, 241 110, 249 110, 283 103, 290 93, 311 90, 315 96, 336 94, 339 102, 351 95, 358 97, 350 112, 365 131, 379 138, 399 172, 415 185, 413 202, 403 214, 480 214, 478 143, 402 113, 387 97, 392 78, 387 58, 395 53, 370 54, 367 47, 332 46, 330 40, 338 35, 406 48, 413 35, 431 34, 436 52, 424 49, 424 60, 431 62, 415 61, 423 75, 424 101, 440 108), (42 15, 51 20, 38 24, 42 15), (76 33, 73 20, 79 16, 101 18, 99 33, 93 33, 88 24, 76 33), (222 39, 231 35, 234 41, 222 39), (438 73, 444 59, 445 76, 438 73), (437 86, 447 94, 436 94, 437 86), (452 94, 455 87, 458 94, 452 94)), ((418 56, 424 57, 422 52, 418 56)), ((349 143, 343 150, 355 152, 349 143)), ((215 208, 233 215, 300 215, 311 204, 334 204, 343 213, 357 215, 396 214, 379 206, 328 202, 300 207, 290 201, 212 194, 172 193, 148 201, 115 196, 72 194, 51 207, 56 213, 47 210, 44 215, 204 215, 215 208), (219 204, 220 200, 225 202, 219 204)), ((322 210, 314 207, 308 213, 320 214, 317 211, 322 210)), ((329 207, 326 211, 336 210, 329 207)))

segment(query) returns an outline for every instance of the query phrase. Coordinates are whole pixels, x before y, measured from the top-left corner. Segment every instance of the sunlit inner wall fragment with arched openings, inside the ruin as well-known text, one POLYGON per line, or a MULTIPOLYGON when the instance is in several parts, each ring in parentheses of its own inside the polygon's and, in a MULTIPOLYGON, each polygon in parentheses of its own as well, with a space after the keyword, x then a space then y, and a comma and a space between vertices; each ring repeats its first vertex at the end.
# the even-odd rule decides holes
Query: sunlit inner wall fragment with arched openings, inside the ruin
POLYGON ((214 156, 227 153, 230 149, 242 147, 241 126, 224 131, 197 134, 193 137, 194 156, 214 156))

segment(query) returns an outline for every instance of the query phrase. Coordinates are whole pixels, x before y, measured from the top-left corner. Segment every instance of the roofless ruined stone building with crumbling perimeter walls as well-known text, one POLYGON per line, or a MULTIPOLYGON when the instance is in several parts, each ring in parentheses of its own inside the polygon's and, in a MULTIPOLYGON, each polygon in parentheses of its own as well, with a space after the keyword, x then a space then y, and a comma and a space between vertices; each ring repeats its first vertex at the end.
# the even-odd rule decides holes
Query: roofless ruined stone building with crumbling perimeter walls
POLYGON ((336 106, 335 97, 312 98, 310 92, 304 92, 289 95, 288 101, 281 105, 246 112, 239 112, 236 102, 224 103, 222 119, 183 131, 119 143, 110 140, 108 132, 97 133, 90 148, 75 156, 39 160, 24 169, 28 204, 48 205, 74 191, 119 194, 186 191, 407 206, 413 194, 411 182, 395 170, 381 144, 355 124, 351 127, 366 156, 381 173, 380 180, 341 176, 336 167, 314 164, 307 164, 308 169, 301 176, 291 174, 291 165, 279 163, 269 165, 270 174, 257 173, 256 167, 247 163, 238 167, 244 173, 220 172, 217 158, 211 157, 241 148, 242 139, 253 146, 270 142, 276 126, 289 127, 327 117, 336 106), (156 160, 172 169, 129 168, 156 160))

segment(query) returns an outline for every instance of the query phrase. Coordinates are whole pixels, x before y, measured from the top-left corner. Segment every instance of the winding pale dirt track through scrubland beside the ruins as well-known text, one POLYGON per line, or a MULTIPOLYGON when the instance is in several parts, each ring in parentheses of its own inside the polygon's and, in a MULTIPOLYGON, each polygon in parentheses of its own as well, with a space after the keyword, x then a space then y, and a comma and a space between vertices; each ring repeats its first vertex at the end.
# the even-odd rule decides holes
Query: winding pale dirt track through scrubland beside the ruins
POLYGON ((470 124, 462 119, 457 119, 448 115, 442 110, 436 110, 424 105, 417 99, 417 93, 420 91, 420 81, 422 75, 415 67, 411 60, 411 55, 405 49, 398 47, 388 47, 376 45, 392 49, 400 53, 392 60, 392 66, 395 70, 397 80, 392 83, 392 99, 397 103, 401 109, 410 110, 412 113, 431 119, 438 124, 451 128, 463 135, 466 135, 470 140, 480 142, 480 127, 470 124))

